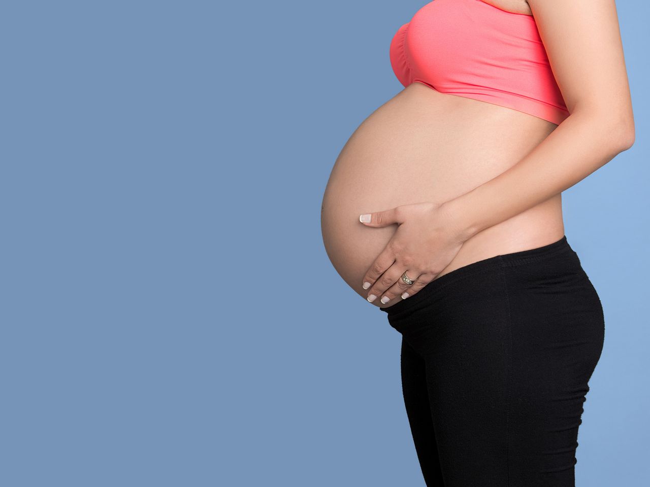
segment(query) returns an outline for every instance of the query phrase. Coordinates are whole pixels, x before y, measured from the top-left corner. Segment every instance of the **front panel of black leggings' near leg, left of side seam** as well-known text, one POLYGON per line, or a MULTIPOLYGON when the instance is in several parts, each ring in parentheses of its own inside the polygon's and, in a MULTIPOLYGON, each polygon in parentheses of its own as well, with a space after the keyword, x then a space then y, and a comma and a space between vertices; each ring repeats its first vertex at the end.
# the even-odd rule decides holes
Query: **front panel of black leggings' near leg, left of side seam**
POLYGON ((507 486, 511 345, 502 271, 446 286, 409 320, 402 331, 425 362, 445 487, 507 486))

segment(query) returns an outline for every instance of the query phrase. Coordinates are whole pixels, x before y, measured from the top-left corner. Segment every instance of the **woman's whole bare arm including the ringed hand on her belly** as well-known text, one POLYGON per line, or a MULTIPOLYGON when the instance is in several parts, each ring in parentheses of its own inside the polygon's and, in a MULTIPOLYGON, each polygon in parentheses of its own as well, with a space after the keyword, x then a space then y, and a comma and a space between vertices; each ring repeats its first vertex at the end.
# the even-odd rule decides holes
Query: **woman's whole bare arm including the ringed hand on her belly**
POLYGON ((419 292, 478 232, 586 178, 634 143, 634 117, 614 0, 528 0, 570 115, 517 164, 445 203, 359 216, 398 227, 363 277, 368 300, 419 292), (417 276, 414 284, 400 278, 417 276))

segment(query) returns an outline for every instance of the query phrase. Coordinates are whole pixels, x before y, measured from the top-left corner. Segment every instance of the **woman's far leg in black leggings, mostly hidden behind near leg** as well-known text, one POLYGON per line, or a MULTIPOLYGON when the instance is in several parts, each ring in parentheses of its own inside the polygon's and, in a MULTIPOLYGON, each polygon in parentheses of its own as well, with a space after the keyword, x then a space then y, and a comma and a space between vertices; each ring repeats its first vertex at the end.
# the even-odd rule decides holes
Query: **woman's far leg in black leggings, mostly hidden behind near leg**
POLYGON ((426 485, 443 487, 424 366, 422 357, 402 339, 402 392, 415 451, 426 485))

